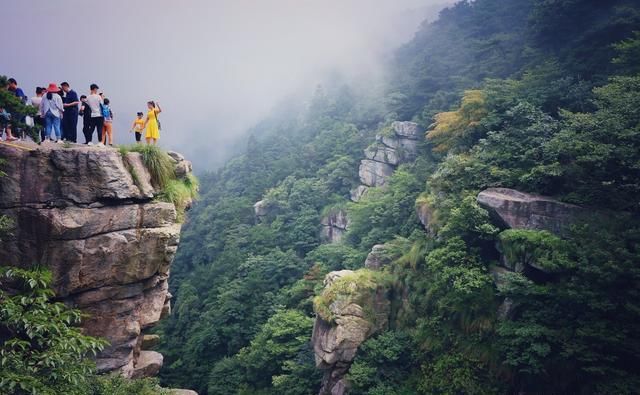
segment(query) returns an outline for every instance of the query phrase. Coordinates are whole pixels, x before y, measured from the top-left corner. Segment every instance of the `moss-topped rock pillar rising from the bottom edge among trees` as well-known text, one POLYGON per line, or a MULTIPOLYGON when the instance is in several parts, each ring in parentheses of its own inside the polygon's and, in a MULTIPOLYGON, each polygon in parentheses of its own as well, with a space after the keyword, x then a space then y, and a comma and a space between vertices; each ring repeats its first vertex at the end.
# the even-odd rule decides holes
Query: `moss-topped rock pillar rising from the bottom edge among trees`
POLYGON ((324 370, 322 395, 342 395, 348 388, 344 376, 358 347, 388 325, 390 303, 387 290, 371 280, 371 271, 341 270, 327 274, 321 298, 316 304, 316 321, 311 342, 316 366, 324 370), (332 287, 337 287, 333 288, 332 287), (336 295, 339 294, 339 295, 336 295))

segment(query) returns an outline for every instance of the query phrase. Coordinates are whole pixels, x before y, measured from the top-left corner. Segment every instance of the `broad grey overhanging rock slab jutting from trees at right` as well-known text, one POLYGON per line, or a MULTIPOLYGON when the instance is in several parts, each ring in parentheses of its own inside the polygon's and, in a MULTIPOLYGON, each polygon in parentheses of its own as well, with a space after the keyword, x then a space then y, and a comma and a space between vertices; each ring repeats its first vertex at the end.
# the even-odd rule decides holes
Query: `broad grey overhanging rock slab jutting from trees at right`
POLYGON ((579 206, 508 188, 486 189, 477 200, 508 228, 547 230, 556 234, 564 233, 583 212, 579 206))

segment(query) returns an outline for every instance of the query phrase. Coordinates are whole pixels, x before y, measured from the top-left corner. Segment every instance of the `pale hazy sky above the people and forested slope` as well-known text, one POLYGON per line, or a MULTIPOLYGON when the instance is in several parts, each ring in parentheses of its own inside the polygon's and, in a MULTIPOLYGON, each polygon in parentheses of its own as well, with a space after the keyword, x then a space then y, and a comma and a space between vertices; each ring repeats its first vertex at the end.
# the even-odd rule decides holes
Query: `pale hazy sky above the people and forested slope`
MULTIPOLYGON (((147 100, 161 143, 201 167, 295 91, 331 71, 379 76, 429 8, 450 0, 7 0, 0 74, 29 95, 92 82, 111 99, 116 143, 147 100)), ((81 135, 81 127, 78 134, 81 135)), ((82 137, 80 141, 84 141, 82 137)))

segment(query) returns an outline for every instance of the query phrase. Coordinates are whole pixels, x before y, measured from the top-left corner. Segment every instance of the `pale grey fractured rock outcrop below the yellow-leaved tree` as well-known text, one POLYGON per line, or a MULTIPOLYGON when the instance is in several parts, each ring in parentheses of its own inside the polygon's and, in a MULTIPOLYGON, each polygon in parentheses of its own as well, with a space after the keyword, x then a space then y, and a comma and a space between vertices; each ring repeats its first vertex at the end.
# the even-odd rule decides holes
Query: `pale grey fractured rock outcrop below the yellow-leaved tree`
POLYGON ((362 185, 351 191, 351 200, 361 199, 368 187, 381 187, 395 168, 415 159, 421 130, 415 122, 393 122, 391 127, 376 135, 373 145, 364 151, 358 175, 362 185))

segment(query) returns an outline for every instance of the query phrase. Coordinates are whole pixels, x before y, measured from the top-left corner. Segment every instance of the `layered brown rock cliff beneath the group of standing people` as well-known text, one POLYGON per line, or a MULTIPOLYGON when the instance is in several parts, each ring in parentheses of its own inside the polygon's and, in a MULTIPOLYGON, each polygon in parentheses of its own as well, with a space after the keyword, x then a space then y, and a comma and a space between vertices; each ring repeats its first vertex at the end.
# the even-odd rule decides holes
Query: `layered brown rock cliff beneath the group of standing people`
MULTIPOLYGON (((175 207, 152 200, 139 154, 22 146, 0 144, 7 174, 0 177, 0 214, 15 222, 0 262, 52 271, 56 296, 88 314, 85 333, 110 342, 97 356, 100 372, 157 373, 162 356, 140 345, 143 331, 169 309, 167 280, 180 235, 175 207)), ((186 176, 191 166, 183 168, 186 176)))

